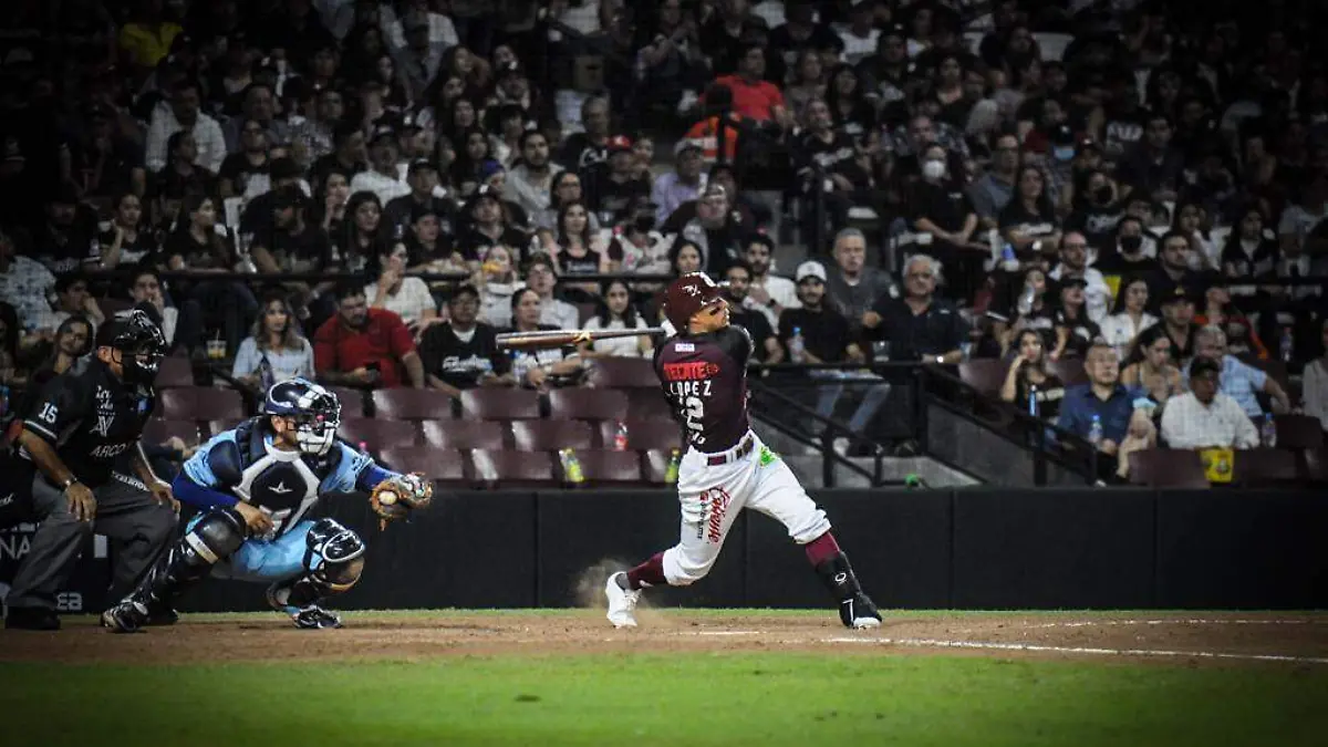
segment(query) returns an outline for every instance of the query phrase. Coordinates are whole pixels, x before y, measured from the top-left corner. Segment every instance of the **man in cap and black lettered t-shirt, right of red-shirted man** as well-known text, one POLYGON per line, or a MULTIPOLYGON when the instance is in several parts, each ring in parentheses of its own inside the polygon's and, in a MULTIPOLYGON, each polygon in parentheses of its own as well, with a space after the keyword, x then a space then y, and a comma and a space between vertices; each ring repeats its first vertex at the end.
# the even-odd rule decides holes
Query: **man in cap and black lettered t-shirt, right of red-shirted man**
POLYGON ((450 318, 429 327, 420 343, 429 387, 461 396, 475 387, 511 387, 511 359, 498 348, 495 330, 477 322, 479 292, 463 284, 448 300, 450 318))

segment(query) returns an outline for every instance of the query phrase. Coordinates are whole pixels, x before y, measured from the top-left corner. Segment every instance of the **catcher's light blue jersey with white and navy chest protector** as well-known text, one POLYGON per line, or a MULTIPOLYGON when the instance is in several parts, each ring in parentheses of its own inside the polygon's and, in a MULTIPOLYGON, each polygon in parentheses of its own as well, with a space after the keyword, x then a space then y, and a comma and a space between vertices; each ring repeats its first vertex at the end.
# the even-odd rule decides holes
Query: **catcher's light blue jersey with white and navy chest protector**
POLYGON ((340 440, 323 457, 278 451, 260 423, 260 417, 246 420, 214 436, 185 463, 185 475, 264 509, 275 526, 271 537, 297 524, 323 493, 355 490, 373 467, 372 459, 340 440))

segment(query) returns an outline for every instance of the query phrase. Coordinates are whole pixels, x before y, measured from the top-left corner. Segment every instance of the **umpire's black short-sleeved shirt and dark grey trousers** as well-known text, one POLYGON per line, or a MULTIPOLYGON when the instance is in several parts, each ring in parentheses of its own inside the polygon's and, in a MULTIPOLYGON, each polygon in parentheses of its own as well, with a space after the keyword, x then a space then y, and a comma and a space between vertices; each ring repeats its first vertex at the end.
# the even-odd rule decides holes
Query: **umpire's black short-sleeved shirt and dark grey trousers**
MULTIPOLYGON (((113 324, 126 323, 108 322, 113 324)), ((11 584, 7 626, 58 626, 52 617, 56 594, 94 530, 112 540, 116 568, 110 598, 129 593, 174 534, 175 512, 159 504, 141 480, 114 469, 138 447, 155 401, 150 383, 125 381, 96 358, 76 363, 32 400, 23 423, 27 436, 46 441, 73 477, 93 492, 97 514, 93 521, 77 520, 69 512, 65 486, 52 484, 17 447, 19 464, 33 471, 31 509, 40 526, 11 584)))

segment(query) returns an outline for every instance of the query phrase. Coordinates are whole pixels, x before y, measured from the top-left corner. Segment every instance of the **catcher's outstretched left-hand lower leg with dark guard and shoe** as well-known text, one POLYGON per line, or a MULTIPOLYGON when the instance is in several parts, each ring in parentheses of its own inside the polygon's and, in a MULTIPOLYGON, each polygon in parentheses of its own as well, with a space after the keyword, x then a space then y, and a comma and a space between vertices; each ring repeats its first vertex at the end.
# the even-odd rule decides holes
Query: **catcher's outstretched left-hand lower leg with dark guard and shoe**
POLYGON ((239 513, 231 509, 207 512, 157 558, 138 587, 102 613, 102 625, 117 633, 131 633, 142 627, 153 610, 170 609, 182 591, 240 549, 247 534, 239 513))

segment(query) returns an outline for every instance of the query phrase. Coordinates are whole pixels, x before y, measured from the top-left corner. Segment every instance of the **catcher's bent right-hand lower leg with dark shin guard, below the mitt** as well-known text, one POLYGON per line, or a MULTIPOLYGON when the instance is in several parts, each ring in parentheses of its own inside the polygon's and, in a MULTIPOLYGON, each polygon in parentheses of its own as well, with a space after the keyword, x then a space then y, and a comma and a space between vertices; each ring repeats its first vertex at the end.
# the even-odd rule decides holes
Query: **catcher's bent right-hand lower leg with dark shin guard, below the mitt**
POLYGON ((320 518, 305 534, 305 573, 267 590, 272 609, 291 615, 296 627, 340 627, 341 618, 317 606, 324 597, 355 586, 368 549, 359 534, 332 518, 320 518))

